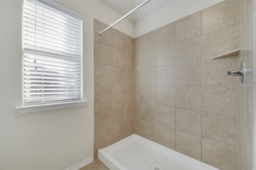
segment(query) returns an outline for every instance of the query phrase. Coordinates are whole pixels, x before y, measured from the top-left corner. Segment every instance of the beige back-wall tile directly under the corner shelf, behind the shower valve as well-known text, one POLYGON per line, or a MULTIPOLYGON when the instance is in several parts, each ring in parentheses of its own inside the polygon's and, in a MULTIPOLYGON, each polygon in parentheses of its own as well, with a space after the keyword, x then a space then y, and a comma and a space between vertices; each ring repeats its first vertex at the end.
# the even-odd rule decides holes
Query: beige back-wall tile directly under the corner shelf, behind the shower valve
POLYGON ((227 71, 236 69, 237 57, 203 61, 203 86, 236 86, 239 76, 229 76, 227 71))

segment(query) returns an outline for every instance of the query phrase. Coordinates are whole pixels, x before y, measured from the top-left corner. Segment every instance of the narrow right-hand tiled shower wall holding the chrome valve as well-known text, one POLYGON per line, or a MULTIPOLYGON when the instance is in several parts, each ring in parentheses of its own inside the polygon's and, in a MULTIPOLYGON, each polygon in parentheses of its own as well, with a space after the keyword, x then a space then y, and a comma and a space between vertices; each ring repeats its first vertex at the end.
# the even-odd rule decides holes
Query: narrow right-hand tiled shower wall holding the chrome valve
MULTIPOLYGON (((238 170, 251 170, 253 162, 253 119, 255 114, 255 54, 253 57, 253 11, 255 1, 238 1, 238 65, 246 65, 246 79, 238 82, 238 170), (254 72, 254 74, 253 74, 254 72), (253 109, 254 108, 254 109, 253 109)), ((255 44, 254 44, 255 45, 255 44)), ((255 133, 255 132, 254 132, 255 133)), ((255 168, 255 167, 254 167, 255 168)))

